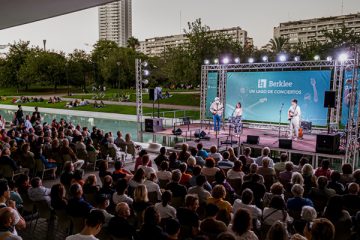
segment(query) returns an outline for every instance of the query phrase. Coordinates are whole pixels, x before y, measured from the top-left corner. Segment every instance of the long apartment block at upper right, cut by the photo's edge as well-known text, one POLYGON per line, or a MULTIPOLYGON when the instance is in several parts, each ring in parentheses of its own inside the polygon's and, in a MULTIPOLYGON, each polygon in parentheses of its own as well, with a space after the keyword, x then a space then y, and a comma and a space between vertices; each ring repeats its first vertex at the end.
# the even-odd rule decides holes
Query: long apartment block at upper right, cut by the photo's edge
POLYGON ((274 27, 274 38, 287 38, 290 44, 325 42, 324 31, 340 29, 343 25, 360 34, 360 13, 280 23, 274 27))

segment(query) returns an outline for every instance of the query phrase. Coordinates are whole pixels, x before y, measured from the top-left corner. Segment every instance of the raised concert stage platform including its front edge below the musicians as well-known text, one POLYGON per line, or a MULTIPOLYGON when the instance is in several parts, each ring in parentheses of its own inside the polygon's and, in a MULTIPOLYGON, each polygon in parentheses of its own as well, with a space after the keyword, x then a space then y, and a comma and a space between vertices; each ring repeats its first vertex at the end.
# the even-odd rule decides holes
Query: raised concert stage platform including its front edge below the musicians
MULTIPOLYGON (((223 151, 228 147, 237 148, 238 150, 242 150, 244 147, 251 147, 255 149, 262 149, 263 147, 270 147, 272 151, 278 151, 278 152, 286 152, 289 154, 289 158, 291 160, 291 154, 303 154, 307 155, 311 158, 312 163, 314 166, 317 166, 317 162, 320 158, 329 158, 329 159, 338 159, 343 162, 345 160, 345 155, 341 154, 343 151, 340 149, 339 154, 323 154, 323 153, 317 153, 316 152, 316 135, 321 133, 326 133, 325 131, 321 130, 315 130, 312 133, 304 133, 303 139, 300 140, 293 140, 292 141, 292 149, 285 149, 285 148, 279 148, 279 132, 277 130, 277 127, 274 126, 273 128, 267 128, 267 129, 261 129, 261 128, 248 128, 244 127, 242 134, 237 137, 233 134, 232 129, 230 129, 229 133, 229 127, 225 126, 224 129, 222 129, 218 134, 213 129, 209 129, 208 125, 201 125, 199 123, 193 123, 190 125, 181 125, 177 126, 176 129, 180 128, 182 130, 182 134, 179 136, 175 136, 173 134, 174 128, 167 128, 163 131, 158 131, 155 133, 149 133, 149 132, 143 132, 144 134, 153 134, 155 136, 162 136, 164 138, 168 138, 170 142, 170 138, 177 137, 178 141, 173 146, 175 149, 180 149, 181 145, 183 143, 187 143, 190 147, 196 147, 196 145, 199 142, 198 138, 195 138, 194 134, 196 131, 204 131, 206 133, 206 136, 209 137, 208 140, 201 139, 200 142, 203 144, 204 149, 209 150, 209 148, 213 145, 217 146, 219 148, 219 151, 223 151), (248 144, 247 136, 248 135, 254 135, 259 136, 259 143, 258 144, 248 144), (240 138, 240 142, 239 142, 240 138), (226 140, 229 141, 229 144, 222 144, 226 140), (230 144, 231 141, 237 141, 236 143, 233 142, 230 144)), ((287 138, 286 137, 286 126, 281 127, 281 138, 287 138)))

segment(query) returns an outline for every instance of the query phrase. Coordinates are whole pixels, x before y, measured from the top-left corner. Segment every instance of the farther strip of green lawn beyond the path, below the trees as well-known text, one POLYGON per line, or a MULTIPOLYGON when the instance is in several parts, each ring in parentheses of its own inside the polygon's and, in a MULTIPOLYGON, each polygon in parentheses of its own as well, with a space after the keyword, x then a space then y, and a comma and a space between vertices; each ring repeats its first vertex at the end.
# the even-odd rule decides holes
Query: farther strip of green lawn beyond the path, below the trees
MULTIPOLYGON (((183 106, 200 106, 200 94, 199 93, 184 93, 184 94, 172 94, 173 96, 167 99, 160 100, 160 104, 172 104, 172 105, 183 105, 183 106)), ((87 95, 73 95, 71 98, 77 99, 92 99, 93 94, 87 95)), ((64 96, 67 97, 67 96, 64 96)), ((115 98, 115 93, 106 93, 103 100, 114 100, 117 101, 115 98)), ((136 95, 130 94, 130 102, 136 101, 136 95)), ((149 100, 149 94, 143 94, 143 102, 144 103, 152 103, 149 100)))

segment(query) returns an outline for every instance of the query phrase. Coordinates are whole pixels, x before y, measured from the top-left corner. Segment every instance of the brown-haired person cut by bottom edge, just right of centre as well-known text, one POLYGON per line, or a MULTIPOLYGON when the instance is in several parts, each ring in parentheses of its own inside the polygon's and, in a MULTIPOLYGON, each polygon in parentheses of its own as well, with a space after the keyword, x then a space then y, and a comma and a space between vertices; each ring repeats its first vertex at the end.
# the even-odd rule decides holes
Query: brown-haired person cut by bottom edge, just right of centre
POLYGON ((256 234, 251 231, 252 216, 246 209, 239 209, 235 212, 231 230, 236 235, 236 239, 258 240, 256 234))

